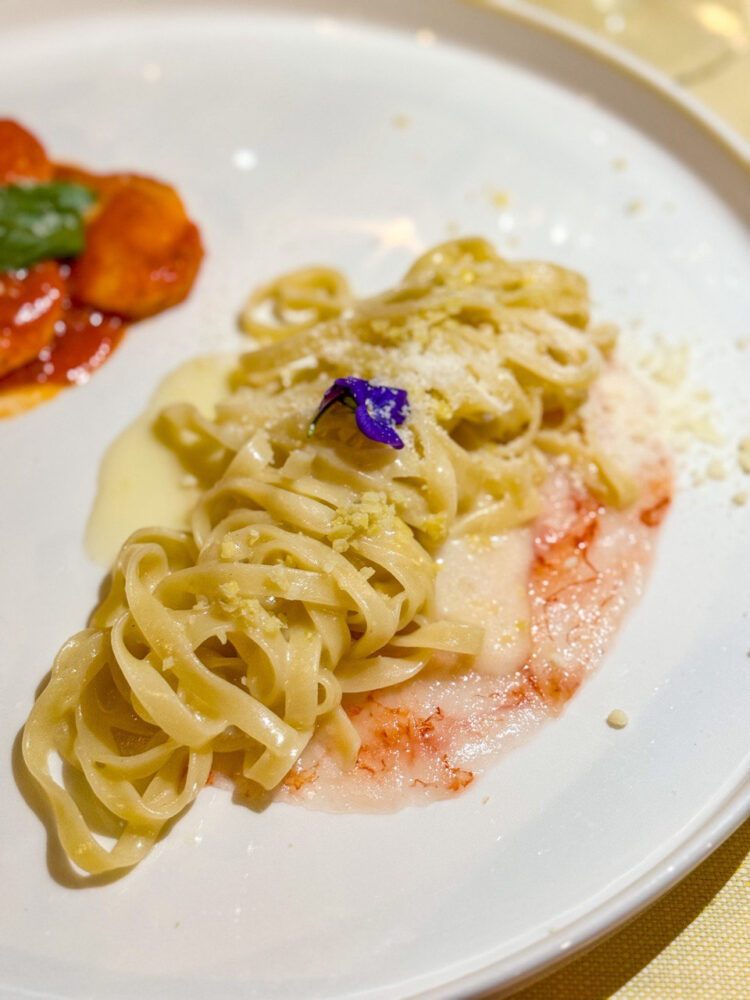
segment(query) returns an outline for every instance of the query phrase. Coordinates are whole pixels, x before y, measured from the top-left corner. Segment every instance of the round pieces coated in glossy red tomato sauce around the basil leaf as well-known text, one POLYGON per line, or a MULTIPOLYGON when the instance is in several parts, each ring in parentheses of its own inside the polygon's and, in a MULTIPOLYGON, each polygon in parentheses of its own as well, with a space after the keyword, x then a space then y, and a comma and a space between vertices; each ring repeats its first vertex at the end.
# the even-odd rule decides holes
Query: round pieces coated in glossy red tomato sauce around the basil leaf
POLYGON ((88 381, 130 323, 188 295, 203 256, 174 188, 55 164, 30 132, 0 120, 0 184, 24 180, 75 181, 96 191, 98 201, 75 260, 0 273, 2 416, 88 381))

